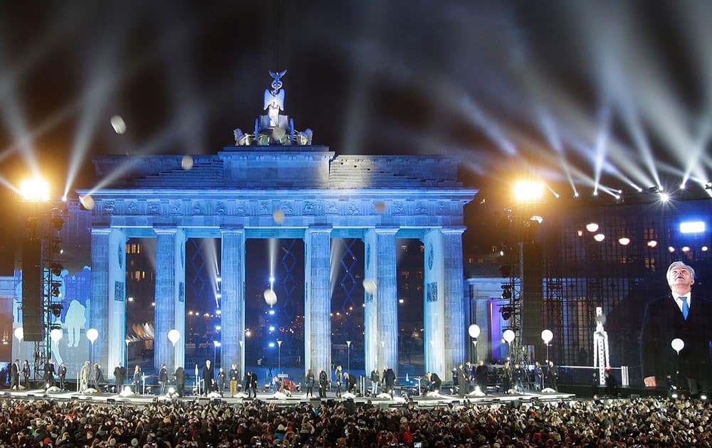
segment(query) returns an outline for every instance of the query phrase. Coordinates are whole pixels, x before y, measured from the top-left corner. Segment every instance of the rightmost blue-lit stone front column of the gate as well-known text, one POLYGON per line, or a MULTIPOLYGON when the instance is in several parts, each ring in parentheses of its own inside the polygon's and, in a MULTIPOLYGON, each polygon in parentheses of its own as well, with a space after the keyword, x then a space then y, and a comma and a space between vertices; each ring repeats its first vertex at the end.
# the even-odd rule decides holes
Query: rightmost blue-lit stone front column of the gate
POLYGON ((444 228, 444 291, 443 315, 447 325, 444 328, 444 368, 447 372, 465 360, 466 326, 464 314, 466 295, 464 292, 464 272, 462 267, 462 233, 464 227, 444 228))

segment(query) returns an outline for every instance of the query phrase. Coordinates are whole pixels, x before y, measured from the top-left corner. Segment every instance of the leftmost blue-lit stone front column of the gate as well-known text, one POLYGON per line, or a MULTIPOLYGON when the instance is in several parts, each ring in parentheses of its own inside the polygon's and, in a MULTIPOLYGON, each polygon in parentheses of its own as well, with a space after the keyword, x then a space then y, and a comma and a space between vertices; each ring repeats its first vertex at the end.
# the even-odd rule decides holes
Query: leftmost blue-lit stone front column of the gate
POLYGON ((91 228, 91 298, 87 329, 97 329, 99 338, 91 346, 89 356, 92 363, 99 363, 104 367, 109 359, 110 233, 111 229, 107 227, 91 228))

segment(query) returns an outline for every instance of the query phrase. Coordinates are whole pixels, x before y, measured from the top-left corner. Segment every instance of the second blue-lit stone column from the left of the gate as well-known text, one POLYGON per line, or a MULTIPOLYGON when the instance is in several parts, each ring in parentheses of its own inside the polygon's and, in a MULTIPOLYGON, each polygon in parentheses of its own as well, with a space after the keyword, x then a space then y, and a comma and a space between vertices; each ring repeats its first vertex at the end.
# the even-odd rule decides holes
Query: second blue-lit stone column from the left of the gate
POLYGON ((156 240, 156 308, 154 366, 165 363, 169 374, 184 363, 185 353, 185 234, 179 228, 154 228, 156 240), (176 329, 175 346, 168 332, 176 329))

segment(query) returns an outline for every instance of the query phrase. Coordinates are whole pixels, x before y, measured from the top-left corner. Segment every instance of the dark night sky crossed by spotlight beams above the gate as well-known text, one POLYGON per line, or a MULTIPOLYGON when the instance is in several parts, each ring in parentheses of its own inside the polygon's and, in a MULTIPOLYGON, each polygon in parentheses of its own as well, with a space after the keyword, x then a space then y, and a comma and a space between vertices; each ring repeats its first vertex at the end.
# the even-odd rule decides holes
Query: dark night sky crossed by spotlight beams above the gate
POLYGON ((708 1, 7 1, 0 176, 35 164, 72 196, 93 154, 215 154, 288 70, 284 113, 315 144, 461 157, 471 228, 518 176, 562 198, 683 181, 708 197, 711 17, 708 1))

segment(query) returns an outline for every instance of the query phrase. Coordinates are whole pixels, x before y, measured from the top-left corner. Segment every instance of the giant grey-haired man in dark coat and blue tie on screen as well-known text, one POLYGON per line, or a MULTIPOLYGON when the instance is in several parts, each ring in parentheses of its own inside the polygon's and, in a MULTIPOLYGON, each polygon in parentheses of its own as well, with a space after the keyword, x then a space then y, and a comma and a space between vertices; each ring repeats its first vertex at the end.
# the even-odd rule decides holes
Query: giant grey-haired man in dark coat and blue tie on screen
POLYGON ((671 294, 645 307, 640 334, 644 383, 664 385, 670 375, 696 394, 711 387, 712 302, 692 294, 695 271, 684 262, 673 262, 666 277, 671 294), (675 338, 684 342, 679 353, 671 348, 675 338))

